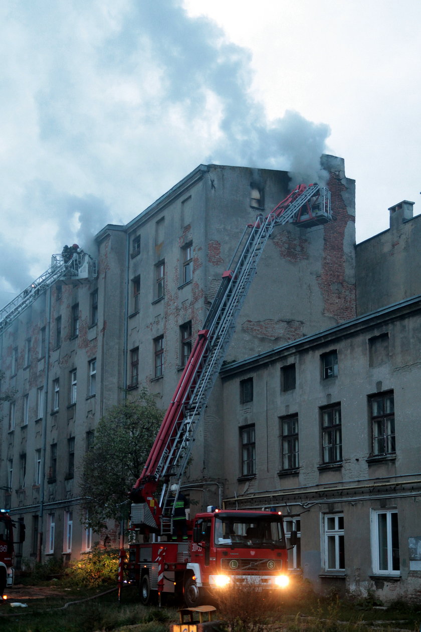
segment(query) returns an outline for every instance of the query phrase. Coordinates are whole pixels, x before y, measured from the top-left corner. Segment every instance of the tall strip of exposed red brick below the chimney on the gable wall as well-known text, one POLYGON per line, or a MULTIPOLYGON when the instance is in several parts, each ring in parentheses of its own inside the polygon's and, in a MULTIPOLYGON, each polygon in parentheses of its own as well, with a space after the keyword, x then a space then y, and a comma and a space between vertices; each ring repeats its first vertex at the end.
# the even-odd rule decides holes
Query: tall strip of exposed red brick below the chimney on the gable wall
POLYGON ((333 222, 324 226, 324 245, 321 274, 317 283, 323 296, 324 315, 338 322, 355 318, 355 281, 345 279, 345 230, 355 217, 348 214, 342 198, 345 186, 331 174, 328 183, 332 196, 333 222))

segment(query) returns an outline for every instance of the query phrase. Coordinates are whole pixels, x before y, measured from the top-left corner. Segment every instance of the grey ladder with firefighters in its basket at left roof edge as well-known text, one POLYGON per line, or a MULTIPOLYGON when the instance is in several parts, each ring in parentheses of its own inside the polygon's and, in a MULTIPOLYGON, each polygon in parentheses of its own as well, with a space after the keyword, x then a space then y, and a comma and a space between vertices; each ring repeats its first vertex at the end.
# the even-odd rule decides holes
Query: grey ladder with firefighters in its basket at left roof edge
POLYGON ((33 301, 37 300, 56 281, 60 279, 89 279, 96 277, 97 274, 97 260, 79 248, 74 248, 73 251, 68 248, 66 253, 52 255, 49 268, 0 310, 0 332, 11 325, 27 307, 32 305, 33 301))

